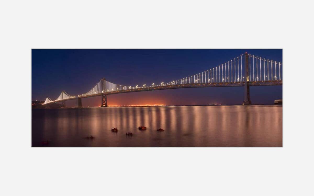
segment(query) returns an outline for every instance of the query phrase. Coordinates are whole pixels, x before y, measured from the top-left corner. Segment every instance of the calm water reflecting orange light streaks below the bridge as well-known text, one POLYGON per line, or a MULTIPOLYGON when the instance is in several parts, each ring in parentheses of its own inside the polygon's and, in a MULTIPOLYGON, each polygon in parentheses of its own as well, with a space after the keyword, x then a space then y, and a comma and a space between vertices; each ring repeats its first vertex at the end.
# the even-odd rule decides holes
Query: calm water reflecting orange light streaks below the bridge
POLYGON ((46 140, 44 146, 282 146, 282 106, 32 109, 32 146, 46 140))

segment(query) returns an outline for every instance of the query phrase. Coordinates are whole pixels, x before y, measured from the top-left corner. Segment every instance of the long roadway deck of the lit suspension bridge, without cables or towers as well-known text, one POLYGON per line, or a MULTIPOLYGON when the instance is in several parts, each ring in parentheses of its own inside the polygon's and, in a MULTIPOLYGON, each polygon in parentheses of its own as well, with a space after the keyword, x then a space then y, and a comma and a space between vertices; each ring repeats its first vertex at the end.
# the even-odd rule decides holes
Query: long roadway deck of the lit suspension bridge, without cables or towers
MULTIPOLYGON (((172 84, 172 85, 164 85, 164 86, 138 87, 138 88, 128 89, 128 90, 111 91, 111 92, 106 92, 106 93, 95 93, 91 95, 82 95, 78 97, 52 101, 50 103, 68 101, 68 100, 73 100, 76 98, 88 98, 88 97, 96 97, 96 96, 101 96, 101 95, 111 95, 111 94, 119 94, 119 93, 132 93, 132 92, 141 92, 141 91, 154 91, 154 90, 192 88, 192 87, 243 87, 244 85, 245 85, 245 82, 243 81, 243 82, 172 84)), ((282 80, 249 81, 247 82, 247 85, 248 86, 275 86, 275 85, 282 85, 282 80)))

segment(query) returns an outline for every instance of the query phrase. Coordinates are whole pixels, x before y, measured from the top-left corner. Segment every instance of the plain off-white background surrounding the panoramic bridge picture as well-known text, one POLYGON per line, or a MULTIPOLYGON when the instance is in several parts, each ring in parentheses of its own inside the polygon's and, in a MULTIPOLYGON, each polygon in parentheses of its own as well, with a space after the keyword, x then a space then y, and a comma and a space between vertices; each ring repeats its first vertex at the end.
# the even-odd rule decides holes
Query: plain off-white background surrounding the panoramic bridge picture
POLYGON ((309 1, 1 1, 1 195, 313 195, 309 1), (283 48, 283 147, 32 148, 32 48, 283 48))

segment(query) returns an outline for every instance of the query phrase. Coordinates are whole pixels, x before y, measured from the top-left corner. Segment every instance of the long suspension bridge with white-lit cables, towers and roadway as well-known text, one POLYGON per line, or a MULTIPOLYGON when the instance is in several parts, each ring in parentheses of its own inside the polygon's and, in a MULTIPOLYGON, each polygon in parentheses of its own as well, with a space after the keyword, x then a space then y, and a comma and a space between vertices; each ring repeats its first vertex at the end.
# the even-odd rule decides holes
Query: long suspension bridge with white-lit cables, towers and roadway
POLYGON ((102 78, 86 93, 69 95, 62 91, 55 100, 47 97, 43 105, 62 102, 65 107, 65 101, 75 99, 76 106, 82 107, 82 98, 101 96, 101 107, 107 107, 107 95, 110 94, 191 87, 244 87, 243 104, 247 105, 252 104, 250 86, 270 85, 282 85, 282 63, 245 53, 204 72, 150 86, 125 86, 102 78))

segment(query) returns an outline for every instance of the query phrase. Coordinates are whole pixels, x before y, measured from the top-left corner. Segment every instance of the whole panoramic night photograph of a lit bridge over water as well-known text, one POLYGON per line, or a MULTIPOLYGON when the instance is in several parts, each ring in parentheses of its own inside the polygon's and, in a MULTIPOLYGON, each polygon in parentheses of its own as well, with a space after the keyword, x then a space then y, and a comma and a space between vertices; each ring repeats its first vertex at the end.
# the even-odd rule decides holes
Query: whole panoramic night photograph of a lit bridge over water
POLYGON ((33 147, 281 147, 282 49, 32 49, 33 147))

